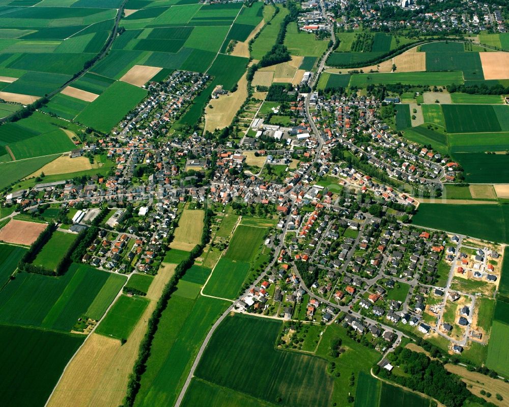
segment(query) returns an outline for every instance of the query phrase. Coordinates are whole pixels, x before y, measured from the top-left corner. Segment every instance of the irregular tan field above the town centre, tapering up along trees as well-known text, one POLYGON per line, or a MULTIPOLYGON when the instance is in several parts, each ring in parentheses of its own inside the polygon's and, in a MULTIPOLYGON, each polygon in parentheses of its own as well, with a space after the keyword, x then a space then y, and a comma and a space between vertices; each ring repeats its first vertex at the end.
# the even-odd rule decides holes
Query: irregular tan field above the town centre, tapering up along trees
POLYGON ((220 95, 212 99, 205 109, 205 130, 214 131, 229 126, 242 103, 247 98, 247 73, 237 83, 237 90, 228 95, 220 95))

